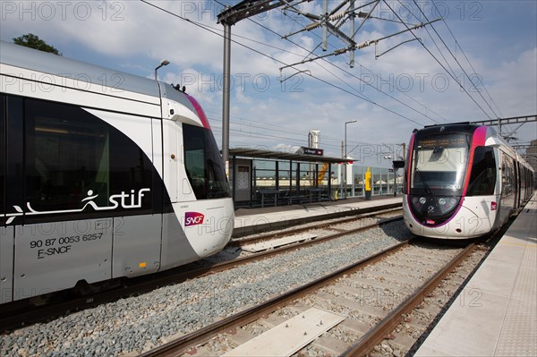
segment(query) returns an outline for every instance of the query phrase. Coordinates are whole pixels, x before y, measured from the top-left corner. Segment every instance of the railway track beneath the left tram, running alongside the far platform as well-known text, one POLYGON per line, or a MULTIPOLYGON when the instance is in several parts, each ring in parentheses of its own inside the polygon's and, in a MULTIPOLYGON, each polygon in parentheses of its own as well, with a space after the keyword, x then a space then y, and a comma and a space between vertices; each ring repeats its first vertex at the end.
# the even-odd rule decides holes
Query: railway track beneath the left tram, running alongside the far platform
POLYGON ((285 232, 277 232, 277 234, 245 237, 238 241, 240 243, 232 242, 231 246, 227 247, 225 251, 218 253, 216 256, 209 257, 209 259, 201 260, 200 262, 195 262, 176 270, 166 271, 160 275, 143 276, 132 279, 130 285, 123 285, 120 288, 109 291, 91 293, 81 297, 68 297, 65 299, 65 292, 63 292, 53 296, 53 299, 60 300, 60 302, 44 304, 37 307, 28 306, 22 303, 10 304, 13 307, 2 307, 2 313, 0 314, 0 330, 12 330, 17 327, 28 326, 48 319, 54 319, 55 317, 69 314, 72 311, 85 310, 106 302, 114 302, 123 297, 147 293, 160 286, 178 284, 196 277, 207 276, 225 271, 226 269, 236 268, 255 260, 267 259, 277 254, 305 248, 320 242, 328 242, 344 236, 345 234, 362 232, 401 219, 400 216, 382 218, 382 216, 385 215, 393 216, 394 212, 397 211, 400 211, 400 208, 388 210, 382 209, 380 212, 360 215, 359 217, 332 219, 328 222, 322 222, 320 225, 287 229, 285 232), (260 241, 269 242, 274 239, 281 239, 288 235, 300 234, 307 230, 311 231, 312 228, 316 229, 316 234, 313 239, 291 241, 283 246, 271 247, 253 253, 242 251, 243 244, 251 244, 260 241), (320 232, 320 230, 322 232, 320 232), (242 254, 236 254, 237 249, 241 250, 242 254), (232 251, 231 253, 229 252, 230 250, 232 251))

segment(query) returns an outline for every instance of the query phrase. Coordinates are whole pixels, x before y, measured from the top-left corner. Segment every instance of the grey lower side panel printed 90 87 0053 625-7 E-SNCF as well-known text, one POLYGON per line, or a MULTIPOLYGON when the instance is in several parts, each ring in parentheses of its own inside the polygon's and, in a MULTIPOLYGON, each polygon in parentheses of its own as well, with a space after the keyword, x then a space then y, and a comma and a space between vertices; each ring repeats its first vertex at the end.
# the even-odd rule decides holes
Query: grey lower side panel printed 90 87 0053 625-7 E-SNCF
POLYGON ((76 285, 109 279, 112 218, 15 225, 13 293, 20 300, 76 285))

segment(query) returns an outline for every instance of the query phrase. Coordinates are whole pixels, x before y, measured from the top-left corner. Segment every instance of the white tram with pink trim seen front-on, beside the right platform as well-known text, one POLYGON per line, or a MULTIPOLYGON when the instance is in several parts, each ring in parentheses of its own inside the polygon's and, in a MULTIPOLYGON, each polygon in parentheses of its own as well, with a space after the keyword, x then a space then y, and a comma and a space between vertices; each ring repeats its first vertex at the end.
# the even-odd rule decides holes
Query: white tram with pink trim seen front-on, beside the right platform
POLYGON ((532 167, 492 127, 456 123, 413 132, 403 198, 405 225, 413 234, 488 234, 532 194, 532 167))

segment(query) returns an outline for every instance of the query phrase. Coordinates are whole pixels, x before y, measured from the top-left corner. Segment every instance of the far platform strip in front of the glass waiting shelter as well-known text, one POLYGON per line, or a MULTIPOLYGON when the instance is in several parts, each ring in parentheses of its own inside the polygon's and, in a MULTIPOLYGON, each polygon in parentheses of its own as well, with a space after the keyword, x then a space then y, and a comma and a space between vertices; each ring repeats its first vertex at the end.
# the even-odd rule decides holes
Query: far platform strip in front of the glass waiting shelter
POLYGON ((267 230, 285 228, 297 223, 358 215, 379 207, 396 208, 402 205, 402 196, 373 196, 371 200, 354 197, 343 200, 312 202, 300 205, 264 208, 238 208, 235 210, 234 237, 257 234, 267 230))

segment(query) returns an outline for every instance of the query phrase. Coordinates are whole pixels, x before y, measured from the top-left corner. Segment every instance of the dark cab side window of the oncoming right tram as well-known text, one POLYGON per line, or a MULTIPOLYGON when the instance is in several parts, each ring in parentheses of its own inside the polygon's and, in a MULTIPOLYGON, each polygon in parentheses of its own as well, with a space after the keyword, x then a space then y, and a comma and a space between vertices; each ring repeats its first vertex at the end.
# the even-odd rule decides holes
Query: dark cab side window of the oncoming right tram
POLYGON ((496 186, 496 160, 494 151, 488 147, 477 147, 473 153, 473 165, 468 183, 468 196, 494 194, 496 186))

